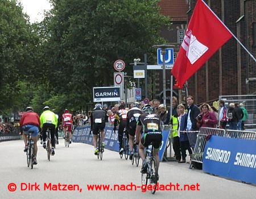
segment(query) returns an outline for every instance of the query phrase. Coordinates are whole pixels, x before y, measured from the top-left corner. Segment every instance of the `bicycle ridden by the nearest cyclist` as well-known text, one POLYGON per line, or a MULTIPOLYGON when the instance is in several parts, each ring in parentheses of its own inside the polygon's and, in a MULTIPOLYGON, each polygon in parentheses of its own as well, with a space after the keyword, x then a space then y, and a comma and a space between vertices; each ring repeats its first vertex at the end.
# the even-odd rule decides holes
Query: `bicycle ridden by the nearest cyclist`
POLYGON ((155 157, 152 155, 153 147, 151 147, 151 151, 147 148, 146 150, 146 164, 147 164, 147 172, 141 173, 141 181, 142 188, 146 190, 148 179, 150 181, 150 185, 152 189, 150 192, 155 194, 156 186, 158 183, 158 165, 156 164, 155 157))

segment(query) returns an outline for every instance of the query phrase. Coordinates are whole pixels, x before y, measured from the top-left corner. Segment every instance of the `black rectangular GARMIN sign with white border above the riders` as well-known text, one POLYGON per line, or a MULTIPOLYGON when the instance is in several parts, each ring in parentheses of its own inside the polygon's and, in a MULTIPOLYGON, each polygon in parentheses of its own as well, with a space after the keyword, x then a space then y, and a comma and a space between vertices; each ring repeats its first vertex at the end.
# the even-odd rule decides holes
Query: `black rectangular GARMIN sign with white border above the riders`
POLYGON ((93 102, 120 101, 120 87, 93 87, 93 102))

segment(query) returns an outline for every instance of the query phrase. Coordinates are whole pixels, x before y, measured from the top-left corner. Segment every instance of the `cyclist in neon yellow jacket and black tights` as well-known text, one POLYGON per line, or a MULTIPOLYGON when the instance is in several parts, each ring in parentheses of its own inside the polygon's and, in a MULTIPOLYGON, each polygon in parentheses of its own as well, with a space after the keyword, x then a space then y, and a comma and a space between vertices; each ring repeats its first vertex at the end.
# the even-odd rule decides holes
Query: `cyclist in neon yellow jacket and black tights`
POLYGON ((51 131, 51 155, 55 155, 55 129, 57 127, 57 117, 55 113, 49 110, 49 106, 45 106, 43 108, 43 113, 40 116, 40 123, 42 128, 42 136, 43 136, 43 147, 46 148, 46 131, 47 128, 51 131))

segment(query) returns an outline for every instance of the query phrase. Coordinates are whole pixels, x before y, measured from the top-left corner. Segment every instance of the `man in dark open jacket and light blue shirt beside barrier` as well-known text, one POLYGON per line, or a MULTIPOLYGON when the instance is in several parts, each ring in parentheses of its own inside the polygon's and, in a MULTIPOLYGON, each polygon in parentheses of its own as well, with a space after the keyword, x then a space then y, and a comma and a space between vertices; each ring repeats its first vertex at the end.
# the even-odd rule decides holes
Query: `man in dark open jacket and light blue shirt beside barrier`
MULTIPOLYGON (((194 104, 194 98, 192 96, 187 96, 186 99, 188 103, 187 131, 198 131, 199 128, 196 125, 196 117, 200 113, 199 107, 194 104)), ((197 133, 198 132, 187 132, 189 144, 193 150, 196 145, 197 133)))

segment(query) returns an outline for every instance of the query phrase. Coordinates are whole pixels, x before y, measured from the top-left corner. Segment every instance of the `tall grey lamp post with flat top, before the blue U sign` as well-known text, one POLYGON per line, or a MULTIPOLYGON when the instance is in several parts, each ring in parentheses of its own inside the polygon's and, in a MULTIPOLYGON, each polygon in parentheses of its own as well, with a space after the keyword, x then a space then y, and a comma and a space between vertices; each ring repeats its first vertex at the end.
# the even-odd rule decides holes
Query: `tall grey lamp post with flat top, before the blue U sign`
MULTIPOLYGON (((163 105, 166 107, 166 48, 174 47, 174 45, 161 44, 153 45, 153 47, 161 48, 161 54, 163 56, 163 105)), ((171 96, 172 96, 172 85, 171 85, 171 96)))

